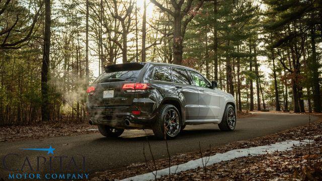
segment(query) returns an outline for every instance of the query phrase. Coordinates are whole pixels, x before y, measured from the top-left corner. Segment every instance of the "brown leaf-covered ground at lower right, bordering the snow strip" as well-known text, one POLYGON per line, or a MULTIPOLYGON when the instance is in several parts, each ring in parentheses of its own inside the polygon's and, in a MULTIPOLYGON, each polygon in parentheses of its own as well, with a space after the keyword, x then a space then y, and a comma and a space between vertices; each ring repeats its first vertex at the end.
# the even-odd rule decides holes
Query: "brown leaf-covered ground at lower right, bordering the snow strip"
MULTIPOLYGON (((314 142, 301 147, 295 147, 291 151, 276 152, 262 156, 248 156, 236 158, 207 166, 207 177, 204 168, 187 170, 171 175, 172 180, 285 180, 285 179, 309 179, 321 180, 322 178, 322 117, 319 120, 305 126, 295 127, 286 131, 271 134, 264 137, 246 141, 238 141, 224 146, 191 152, 186 154, 171 155, 169 158, 154 161, 135 163, 126 167, 97 172, 92 180, 122 179, 138 174, 148 173, 154 170, 185 163, 189 160, 199 159, 204 156, 223 153, 233 149, 250 148, 268 145, 286 140, 313 139, 314 142), (169 163, 170 162, 170 163, 169 163), (316 178, 317 179, 316 179, 316 178)), ((166 148, 165 148, 166 149, 166 148)), ((145 154, 150 157, 149 148, 145 148, 145 154)), ((169 176, 158 180, 169 180, 169 176)))

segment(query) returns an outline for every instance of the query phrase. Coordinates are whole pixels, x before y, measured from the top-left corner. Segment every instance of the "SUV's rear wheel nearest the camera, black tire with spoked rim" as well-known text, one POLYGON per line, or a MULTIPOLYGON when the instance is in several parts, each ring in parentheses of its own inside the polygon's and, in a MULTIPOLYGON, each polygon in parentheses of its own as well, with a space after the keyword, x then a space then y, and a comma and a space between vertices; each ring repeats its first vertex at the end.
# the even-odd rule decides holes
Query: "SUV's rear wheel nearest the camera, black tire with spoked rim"
POLYGON ((178 109, 173 105, 166 104, 162 105, 159 113, 152 126, 154 136, 158 139, 173 139, 178 136, 181 129, 181 116, 178 109))

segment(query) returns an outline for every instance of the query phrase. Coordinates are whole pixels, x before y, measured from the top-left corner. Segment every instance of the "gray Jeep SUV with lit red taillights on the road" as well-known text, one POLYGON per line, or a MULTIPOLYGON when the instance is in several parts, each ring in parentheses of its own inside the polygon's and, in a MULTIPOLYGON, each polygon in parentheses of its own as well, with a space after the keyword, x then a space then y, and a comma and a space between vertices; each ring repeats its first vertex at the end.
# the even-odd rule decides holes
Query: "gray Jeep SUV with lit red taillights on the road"
POLYGON ((87 114, 102 135, 124 129, 152 129, 160 139, 175 138, 186 125, 236 126, 233 96, 198 71, 166 63, 124 63, 105 67, 87 89, 87 114))

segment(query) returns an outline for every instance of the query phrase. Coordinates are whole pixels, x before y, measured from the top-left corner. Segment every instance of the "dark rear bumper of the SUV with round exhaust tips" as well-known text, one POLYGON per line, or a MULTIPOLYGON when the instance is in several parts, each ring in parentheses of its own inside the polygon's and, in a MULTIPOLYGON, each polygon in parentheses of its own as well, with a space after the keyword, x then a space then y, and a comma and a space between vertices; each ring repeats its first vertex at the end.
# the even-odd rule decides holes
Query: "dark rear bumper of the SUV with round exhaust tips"
POLYGON ((154 123, 157 112, 154 102, 146 100, 136 99, 131 106, 88 107, 87 112, 90 123, 123 129, 149 128, 154 123), (132 111, 138 110, 141 111, 140 115, 132 114, 132 111))

